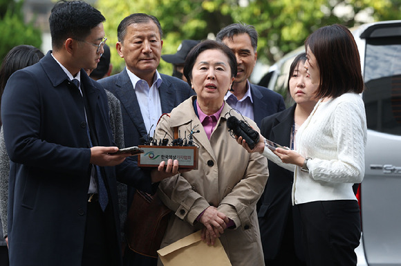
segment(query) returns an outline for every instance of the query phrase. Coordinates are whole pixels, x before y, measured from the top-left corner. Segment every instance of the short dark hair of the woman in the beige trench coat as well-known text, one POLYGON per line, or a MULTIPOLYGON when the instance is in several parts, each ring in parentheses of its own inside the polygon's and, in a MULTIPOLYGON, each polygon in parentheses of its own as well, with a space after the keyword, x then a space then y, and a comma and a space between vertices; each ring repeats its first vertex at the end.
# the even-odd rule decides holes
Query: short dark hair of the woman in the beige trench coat
POLYGON ((192 86, 192 69, 194 68, 195 61, 198 56, 205 50, 221 50, 225 55, 227 55, 231 69, 231 77, 236 76, 236 57, 234 53, 232 53, 232 50, 225 44, 221 44, 217 41, 212 41, 208 39, 205 41, 201 41, 200 44, 192 48, 192 50, 187 55, 187 59, 185 59, 184 75, 187 78, 189 86, 192 86))

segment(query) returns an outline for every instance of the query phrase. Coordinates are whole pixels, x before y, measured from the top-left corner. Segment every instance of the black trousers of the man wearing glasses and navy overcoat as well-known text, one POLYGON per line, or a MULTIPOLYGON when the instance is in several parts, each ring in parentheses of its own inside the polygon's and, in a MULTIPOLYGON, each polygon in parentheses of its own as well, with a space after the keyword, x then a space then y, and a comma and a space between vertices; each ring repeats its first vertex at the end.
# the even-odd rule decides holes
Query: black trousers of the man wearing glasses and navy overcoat
POLYGON ((82 266, 115 265, 113 262, 115 247, 111 247, 111 243, 115 241, 108 218, 111 215, 108 213, 110 211, 108 206, 103 212, 97 200, 88 202, 82 266))

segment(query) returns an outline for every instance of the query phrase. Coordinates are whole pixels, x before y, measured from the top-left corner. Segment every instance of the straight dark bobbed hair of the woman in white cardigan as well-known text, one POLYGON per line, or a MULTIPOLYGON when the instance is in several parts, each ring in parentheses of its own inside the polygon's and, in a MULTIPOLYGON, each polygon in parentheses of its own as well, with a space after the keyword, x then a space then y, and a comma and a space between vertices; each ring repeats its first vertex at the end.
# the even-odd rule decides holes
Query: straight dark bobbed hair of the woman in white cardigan
POLYGON ((308 47, 320 70, 318 98, 364 91, 360 53, 348 28, 339 24, 319 28, 306 39, 308 47))

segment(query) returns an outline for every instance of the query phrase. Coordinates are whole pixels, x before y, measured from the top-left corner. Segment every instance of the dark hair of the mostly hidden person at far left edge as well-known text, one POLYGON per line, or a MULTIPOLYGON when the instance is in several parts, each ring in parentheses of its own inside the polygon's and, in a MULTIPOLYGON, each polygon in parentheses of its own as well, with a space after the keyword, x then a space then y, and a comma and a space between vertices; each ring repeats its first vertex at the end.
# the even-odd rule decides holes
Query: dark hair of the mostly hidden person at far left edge
POLYGON ((36 64, 42 57, 44 57, 44 54, 41 53, 41 50, 28 45, 15 46, 7 53, 0 67, 0 103, 4 88, 6 88, 8 78, 12 73, 36 64))

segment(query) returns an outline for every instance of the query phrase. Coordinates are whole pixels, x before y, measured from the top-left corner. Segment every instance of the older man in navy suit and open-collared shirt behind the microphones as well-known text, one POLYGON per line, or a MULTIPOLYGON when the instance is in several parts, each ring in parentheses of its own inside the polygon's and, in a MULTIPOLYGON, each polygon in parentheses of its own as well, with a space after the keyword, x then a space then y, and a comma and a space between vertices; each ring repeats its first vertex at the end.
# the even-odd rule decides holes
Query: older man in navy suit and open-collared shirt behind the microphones
MULTIPOLYGON (((117 51, 126 67, 100 83, 120 99, 125 146, 138 146, 153 136, 159 117, 169 113, 194 91, 176 77, 156 68, 162 50, 162 28, 156 17, 136 13, 124 18, 117 29, 117 51)), ((128 188, 128 205, 138 187, 128 188)), ((127 208, 129 209, 129 207, 127 208)), ((156 265, 155 258, 135 254, 127 247, 124 265, 156 265)))

